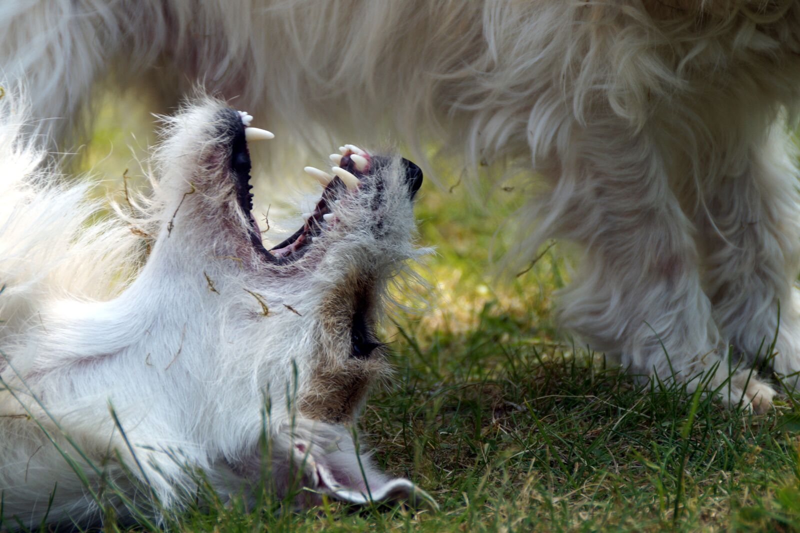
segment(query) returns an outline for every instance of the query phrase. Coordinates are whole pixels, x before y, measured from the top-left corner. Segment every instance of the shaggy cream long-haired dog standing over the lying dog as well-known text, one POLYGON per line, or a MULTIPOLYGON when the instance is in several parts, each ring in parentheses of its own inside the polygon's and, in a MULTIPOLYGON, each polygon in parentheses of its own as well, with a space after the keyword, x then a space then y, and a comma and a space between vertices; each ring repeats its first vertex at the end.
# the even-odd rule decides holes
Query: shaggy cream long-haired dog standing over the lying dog
POLYGON ((98 80, 201 79, 282 122, 532 162, 522 255, 586 249, 564 327, 758 409, 774 389, 729 351, 800 371, 800 0, 30 0, 0 34, 42 118, 98 80))

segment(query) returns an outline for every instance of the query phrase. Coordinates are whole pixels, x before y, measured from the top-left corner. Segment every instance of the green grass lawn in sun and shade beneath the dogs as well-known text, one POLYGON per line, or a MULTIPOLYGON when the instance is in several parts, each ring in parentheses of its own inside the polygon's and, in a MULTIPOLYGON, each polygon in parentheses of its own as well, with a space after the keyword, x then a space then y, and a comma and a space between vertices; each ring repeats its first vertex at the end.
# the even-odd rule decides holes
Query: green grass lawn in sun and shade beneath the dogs
POLYGON ((726 409, 637 384, 572 346, 550 319, 568 278, 555 249, 510 282, 487 273, 490 246, 512 235, 495 230, 519 199, 484 193, 478 205, 465 186, 423 188, 421 240, 438 247, 426 266, 434 309, 386 328, 395 383, 370 398, 359 423, 378 464, 419 483, 441 510, 327 501, 298 513, 269 498, 246 508, 206 495, 168 528, 800 531, 800 407, 782 399, 767 415, 726 409))

